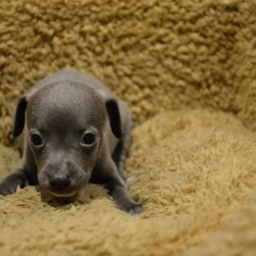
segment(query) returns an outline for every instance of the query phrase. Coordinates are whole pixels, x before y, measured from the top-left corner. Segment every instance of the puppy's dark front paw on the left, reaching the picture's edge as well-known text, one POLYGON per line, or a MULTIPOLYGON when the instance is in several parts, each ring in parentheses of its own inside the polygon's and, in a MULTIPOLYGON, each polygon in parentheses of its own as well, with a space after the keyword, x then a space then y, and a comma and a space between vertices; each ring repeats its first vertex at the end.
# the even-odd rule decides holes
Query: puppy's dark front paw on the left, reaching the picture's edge
POLYGON ((26 187, 26 185, 32 184, 26 175, 26 170, 19 168, 11 172, 11 174, 4 178, 0 183, 0 194, 6 196, 17 191, 17 187, 26 187))

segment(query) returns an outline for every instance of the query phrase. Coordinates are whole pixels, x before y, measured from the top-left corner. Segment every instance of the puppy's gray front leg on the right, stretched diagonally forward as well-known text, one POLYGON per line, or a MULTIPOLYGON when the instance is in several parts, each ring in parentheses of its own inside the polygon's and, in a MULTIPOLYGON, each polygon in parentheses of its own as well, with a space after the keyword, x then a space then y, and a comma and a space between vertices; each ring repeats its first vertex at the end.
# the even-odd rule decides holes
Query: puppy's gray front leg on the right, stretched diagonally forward
POLYGON ((131 215, 139 215, 143 211, 141 204, 132 200, 126 184, 118 174, 115 162, 110 157, 96 165, 91 181, 103 184, 120 210, 131 215))

